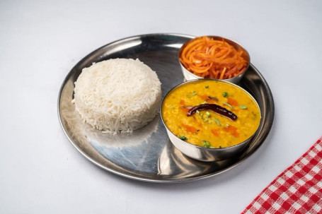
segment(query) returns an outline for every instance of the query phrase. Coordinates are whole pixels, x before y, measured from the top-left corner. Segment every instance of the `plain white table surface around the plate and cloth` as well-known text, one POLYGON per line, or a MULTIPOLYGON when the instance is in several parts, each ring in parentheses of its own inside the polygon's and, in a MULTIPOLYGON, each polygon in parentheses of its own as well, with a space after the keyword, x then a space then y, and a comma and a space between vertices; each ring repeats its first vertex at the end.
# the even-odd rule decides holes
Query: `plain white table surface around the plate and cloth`
POLYGON ((0 213, 240 213, 322 135, 322 1, 1 1, 0 213), (57 96, 94 49, 132 35, 221 35, 270 85, 275 120, 250 158, 216 177, 153 184, 86 160, 57 96))

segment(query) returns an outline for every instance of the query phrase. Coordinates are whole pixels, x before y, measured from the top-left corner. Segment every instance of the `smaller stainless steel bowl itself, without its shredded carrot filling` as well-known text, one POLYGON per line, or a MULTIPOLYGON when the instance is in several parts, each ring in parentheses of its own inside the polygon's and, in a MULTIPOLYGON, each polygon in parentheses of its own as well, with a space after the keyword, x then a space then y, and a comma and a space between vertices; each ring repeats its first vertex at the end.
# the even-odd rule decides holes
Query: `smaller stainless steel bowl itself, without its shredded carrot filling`
MULTIPOLYGON (((229 83, 235 83, 235 84, 239 83, 241 81, 241 78, 243 78, 243 75, 248 70, 249 64, 251 64, 251 57, 250 57, 249 53, 247 52, 247 50, 244 49, 241 46, 241 44, 238 44, 237 42, 234 42, 233 40, 229 40, 229 39, 224 38, 224 37, 219 37, 219 36, 207 36, 207 37, 212 38, 214 40, 224 40, 225 42, 230 44, 232 47, 234 47, 237 51, 238 50, 243 50, 243 52, 246 53, 246 54, 243 54, 243 56, 242 56, 244 59, 246 59, 246 61, 248 61, 248 66, 247 66, 246 70, 243 73, 241 73, 240 75, 238 75, 238 76, 235 76, 233 78, 227 78, 227 79, 222 79, 221 80, 221 81, 226 81, 226 82, 229 82, 229 83)), ((197 76, 194 73, 191 73, 190 71, 188 71, 188 69, 186 69, 185 66, 183 66, 183 64, 180 62, 180 56, 181 56, 181 53, 183 52, 183 49, 185 49, 185 47, 190 42, 193 42, 197 38, 200 38, 200 37, 195 37, 194 39, 192 39, 192 40, 190 40, 188 42, 185 42, 185 44, 183 44, 183 46, 180 48, 179 54, 178 54, 178 59, 179 59, 181 71, 183 72, 183 76, 185 76, 185 80, 187 80, 187 81, 202 78, 201 76, 197 76)))

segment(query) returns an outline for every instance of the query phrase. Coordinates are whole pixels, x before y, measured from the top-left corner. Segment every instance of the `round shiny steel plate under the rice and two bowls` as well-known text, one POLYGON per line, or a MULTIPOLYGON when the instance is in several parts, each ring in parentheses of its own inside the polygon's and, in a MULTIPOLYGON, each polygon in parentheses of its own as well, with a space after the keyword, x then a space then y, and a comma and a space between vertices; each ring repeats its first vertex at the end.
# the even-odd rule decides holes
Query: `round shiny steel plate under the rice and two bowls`
POLYGON ((139 59, 156 71, 162 95, 184 81, 178 51, 189 35, 149 34, 127 37, 96 49, 68 73, 58 97, 58 116, 69 141, 94 164, 122 177, 144 182, 191 182, 213 177, 250 157, 265 141, 274 119, 274 101, 268 83, 251 64, 239 84, 258 101, 262 113, 260 128, 241 155, 220 162, 200 162, 186 157, 169 140, 160 115, 130 134, 110 135, 81 121, 71 100, 74 82, 81 70, 93 62, 115 58, 139 59))

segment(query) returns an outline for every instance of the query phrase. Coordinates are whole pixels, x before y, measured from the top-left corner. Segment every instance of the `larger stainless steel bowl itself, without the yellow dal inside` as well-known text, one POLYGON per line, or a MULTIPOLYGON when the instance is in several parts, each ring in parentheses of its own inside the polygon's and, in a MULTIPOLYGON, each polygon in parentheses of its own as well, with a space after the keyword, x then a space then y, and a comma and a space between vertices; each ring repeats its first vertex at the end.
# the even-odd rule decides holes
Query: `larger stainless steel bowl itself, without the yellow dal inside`
MULTIPOLYGON (((201 160, 201 161, 205 161, 205 162, 226 160, 228 158, 237 156, 238 154, 242 153, 247 148, 248 143, 251 141, 251 139, 253 138, 255 133, 258 131, 259 126, 257 127, 256 131, 253 133, 253 135, 250 138, 248 138, 246 141, 238 143, 237 145, 233 145, 233 146, 226 147, 226 148, 205 148, 205 147, 200 147, 197 145, 192 145, 190 143, 187 143, 187 142, 181 140, 180 138, 178 138, 174 133, 172 133, 168 129, 168 127, 166 126, 166 123, 163 120, 163 115, 162 115, 163 102, 164 102, 164 100, 166 100, 166 97, 173 90, 180 87, 181 85, 194 83, 197 81, 205 81, 205 80, 218 81, 218 80, 214 80, 214 79, 205 79, 205 78, 204 79, 197 79, 197 80, 192 80, 192 81, 185 81, 183 83, 180 83, 176 87, 172 88, 162 100, 161 109, 160 109, 161 120, 163 122, 163 125, 166 127, 166 132, 168 133, 168 137, 170 138, 171 143, 173 143, 173 145, 175 145, 176 148, 178 148, 178 150, 180 150, 180 152, 183 153, 184 155, 187 155, 188 157, 191 157, 195 160, 201 160)), ((239 87, 238 85, 235 85, 234 83, 229 83, 229 82, 226 82, 226 83, 234 85, 234 87, 240 88, 241 90, 243 90, 244 93, 247 93, 254 100, 255 104, 258 106, 258 109, 260 109, 258 102, 256 102, 256 100, 253 98, 253 96, 250 93, 248 93, 246 90, 239 87)), ((260 119, 261 119, 261 115, 260 115, 260 119)))

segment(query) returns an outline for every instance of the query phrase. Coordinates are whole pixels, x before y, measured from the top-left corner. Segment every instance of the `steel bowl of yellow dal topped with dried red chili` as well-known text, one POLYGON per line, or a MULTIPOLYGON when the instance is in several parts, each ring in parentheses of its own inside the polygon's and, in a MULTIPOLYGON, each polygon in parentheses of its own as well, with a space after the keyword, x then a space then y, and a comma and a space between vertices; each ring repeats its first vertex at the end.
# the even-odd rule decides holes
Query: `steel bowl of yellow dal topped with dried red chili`
POLYGON ((188 157, 208 162, 242 153, 261 120, 250 93, 234 83, 205 78, 170 90, 160 112, 173 145, 188 157))

